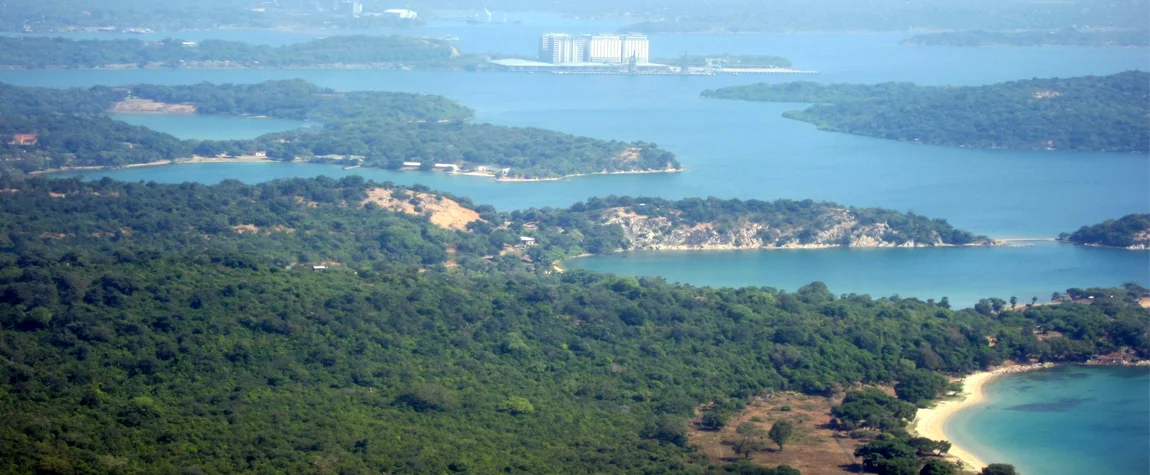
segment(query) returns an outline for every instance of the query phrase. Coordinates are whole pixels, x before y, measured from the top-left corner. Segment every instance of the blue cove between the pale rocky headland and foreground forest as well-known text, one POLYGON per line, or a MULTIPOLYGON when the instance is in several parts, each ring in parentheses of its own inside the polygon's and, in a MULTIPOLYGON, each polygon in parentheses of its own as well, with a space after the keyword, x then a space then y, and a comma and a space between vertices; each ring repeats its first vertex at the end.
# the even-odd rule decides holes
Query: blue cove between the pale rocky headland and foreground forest
POLYGON ((1028 247, 642 251, 565 262, 569 268, 706 286, 788 291, 821 281, 831 292, 922 300, 948 297, 956 308, 979 299, 1050 300, 1068 288, 1150 285, 1144 251, 1038 242, 1028 247))

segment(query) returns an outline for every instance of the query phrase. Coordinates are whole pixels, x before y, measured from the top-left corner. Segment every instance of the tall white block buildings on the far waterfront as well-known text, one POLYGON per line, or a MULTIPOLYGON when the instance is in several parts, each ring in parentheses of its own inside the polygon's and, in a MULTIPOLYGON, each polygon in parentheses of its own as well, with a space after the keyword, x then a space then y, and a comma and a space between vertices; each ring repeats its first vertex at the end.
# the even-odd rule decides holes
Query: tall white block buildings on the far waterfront
POLYGON ((569 63, 647 63, 651 41, 645 35, 546 33, 539 38, 539 61, 569 63))

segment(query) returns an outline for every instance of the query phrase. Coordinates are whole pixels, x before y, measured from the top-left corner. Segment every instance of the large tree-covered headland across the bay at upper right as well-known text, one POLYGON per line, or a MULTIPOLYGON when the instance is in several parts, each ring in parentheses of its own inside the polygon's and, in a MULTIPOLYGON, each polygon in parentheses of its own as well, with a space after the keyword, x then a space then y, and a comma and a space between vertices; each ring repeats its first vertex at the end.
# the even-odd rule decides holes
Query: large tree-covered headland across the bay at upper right
POLYGON ((704 97, 820 104, 785 117, 820 130, 963 147, 1150 152, 1150 72, 977 87, 754 84, 704 97))

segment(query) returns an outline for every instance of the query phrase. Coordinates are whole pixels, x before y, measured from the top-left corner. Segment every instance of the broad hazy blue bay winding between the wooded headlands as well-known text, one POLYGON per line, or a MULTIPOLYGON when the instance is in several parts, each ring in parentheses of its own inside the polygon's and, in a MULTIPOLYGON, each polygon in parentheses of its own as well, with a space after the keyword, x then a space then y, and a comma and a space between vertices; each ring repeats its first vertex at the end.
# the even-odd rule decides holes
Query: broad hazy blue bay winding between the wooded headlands
MULTIPOLYGON (((520 44, 515 29, 489 26, 492 44, 520 44)), ((460 26, 465 28, 465 26, 460 26)), ((509 28, 509 26, 508 26, 509 28)), ((914 48, 898 33, 683 36, 652 38, 664 51, 770 53, 814 67, 819 82, 915 81, 987 84, 1032 76, 1150 70, 1136 49, 914 48), (994 67, 990 67, 994 64, 994 67)), ((523 46, 534 48, 534 43, 523 46)), ((443 94, 476 109, 478 122, 555 129, 604 139, 649 140, 680 155, 683 174, 596 176, 549 183, 498 183, 476 177, 301 163, 179 164, 85 173, 95 178, 215 183, 279 177, 363 175, 421 183, 499 209, 566 207, 595 196, 819 199, 913 210, 997 238, 1051 237, 1128 213, 1150 212, 1150 158, 1137 154, 989 151, 905 144, 821 132, 781 114, 802 107, 706 100, 705 89, 789 76, 629 77, 452 71, 139 70, 0 71, 0 81, 48 86, 93 84, 255 83, 302 77, 342 91, 443 94)), ((620 273, 654 273, 704 285, 795 289, 828 281, 837 293, 941 298, 972 302, 990 296, 1048 299, 1068 286, 1150 284, 1147 253, 1063 245, 1023 248, 833 250, 780 253, 610 255, 577 262, 620 273), (682 255, 690 255, 691 262, 682 255), (737 266, 738 255, 759 266, 737 266), (754 258, 747 258, 754 256, 754 258), (665 259, 664 263, 657 261, 665 259), (608 262, 618 260, 618 262, 608 262), (654 262, 653 262, 654 261, 654 262), (768 262, 770 261, 770 262, 768 262), (963 261, 968 261, 963 263, 963 261), (635 262, 644 262, 642 269, 635 262), (734 266, 734 267, 731 267, 734 266), (775 269, 773 273, 764 269, 775 269), (691 269, 683 271, 682 269, 691 269), (724 269, 705 277, 702 269, 724 269), (803 269, 819 269, 803 271, 803 269), (866 276, 864 278, 862 276, 866 276)))

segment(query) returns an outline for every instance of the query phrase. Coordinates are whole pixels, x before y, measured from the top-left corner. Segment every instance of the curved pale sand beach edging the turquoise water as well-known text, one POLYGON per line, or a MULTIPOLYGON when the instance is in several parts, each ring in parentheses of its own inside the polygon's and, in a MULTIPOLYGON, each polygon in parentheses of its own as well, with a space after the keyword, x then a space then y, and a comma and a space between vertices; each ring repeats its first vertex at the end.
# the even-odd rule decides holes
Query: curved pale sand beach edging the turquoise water
MULTIPOLYGON (((1009 366, 991 371, 981 371, 966 376, 963 378, 963 394, 959 394, 956 399, 943 400, 935 407, 919 409, 914 417, 912 431, 919 437, 926 437, 933 440, 949 440, 943 430, 946 420, 966 407, 982 403, 984 399, 983 385, 986 385, 988 381, 995 378, 995 376, 1004 374, 1045 369, 1053 366, 1053 363, 1009 366)), ((987 461, 959 446, 953 440, 950 442, 952 445, 950 447, 950 452, 948 453, 948 458, 952 461, 961 462, 964 470, 979 472, 988 465, 987 461)))

